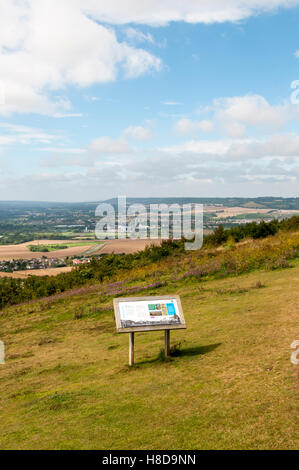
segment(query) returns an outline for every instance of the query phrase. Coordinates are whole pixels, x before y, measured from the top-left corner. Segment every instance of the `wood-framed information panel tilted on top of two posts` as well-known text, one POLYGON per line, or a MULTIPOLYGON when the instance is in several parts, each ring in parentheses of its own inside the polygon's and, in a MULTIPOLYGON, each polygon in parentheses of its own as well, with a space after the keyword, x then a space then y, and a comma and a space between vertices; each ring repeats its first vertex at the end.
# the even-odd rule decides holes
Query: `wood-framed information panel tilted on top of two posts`
POLYGON ((186 328, 178 295, 114 299, 119 333, 186 328))

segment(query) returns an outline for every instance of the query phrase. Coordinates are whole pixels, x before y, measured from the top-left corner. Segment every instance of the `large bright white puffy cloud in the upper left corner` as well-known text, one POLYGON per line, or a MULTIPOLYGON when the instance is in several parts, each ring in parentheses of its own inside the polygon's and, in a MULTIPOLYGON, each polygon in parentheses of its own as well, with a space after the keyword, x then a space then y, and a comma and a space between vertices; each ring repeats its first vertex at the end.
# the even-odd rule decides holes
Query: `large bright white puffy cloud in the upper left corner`
POLYGON ((0 0, 1 114, 63 117, 71 103, 52 98, 53 90, 113 81, 121 70, 129 78, 159 70, 159 58, 119 42, 86 13, 79 0, 0 0))

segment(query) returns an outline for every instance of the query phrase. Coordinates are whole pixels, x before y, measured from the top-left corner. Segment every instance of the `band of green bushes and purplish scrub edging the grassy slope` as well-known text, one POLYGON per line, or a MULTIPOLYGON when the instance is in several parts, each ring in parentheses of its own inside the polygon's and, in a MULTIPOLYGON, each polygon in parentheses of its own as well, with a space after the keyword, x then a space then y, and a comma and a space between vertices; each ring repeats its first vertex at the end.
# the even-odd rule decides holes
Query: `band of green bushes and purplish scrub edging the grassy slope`
MULTIPOLYGON (((93 257, 88 265, 61 273, 56 278, 46 275, 22 280, 5 277, 0 279, 0 310, 8 305, 59 294, 75 287, 96 282, 105 284, 112 279, 118 280, 119 276, 124 283, 128 279, 136 279, 138 284, 134 286, 135 290, 132 287, 135 292, 140 287, 140 281, 150 277, 161 279, 162 273, 166 274, 166 282, 169 278, 173 282, 182 277, 240 274, 262 266, 283 267, 289 259, 299 254, 298 230, 299 216, 281 222, 252 222, 228 230, 219 225, 204 238, 204 248, 199 251, 185 251, 183 240, 164 240, 159 246, 154 244, 137 253, 123 256, 110 254, 100 259, 93 257), (263 243, 255 242, 262 239, 265 239, 263 243), (236 252, 235 244, 240 241, 244 241, 246 246, 236 252), (217 247, 222 250, 222 255, 217 247), (156 264, 153 265, 154 262, 156 264), (191 267, 195 269, 190 270, 191 267)), ((240 246, 239 243, 238 248, 240 246)), ((88 253, 94 254, 94 249, 88 253)), ((114 290, 115 293, 119 293, 119 289, 114 290)))

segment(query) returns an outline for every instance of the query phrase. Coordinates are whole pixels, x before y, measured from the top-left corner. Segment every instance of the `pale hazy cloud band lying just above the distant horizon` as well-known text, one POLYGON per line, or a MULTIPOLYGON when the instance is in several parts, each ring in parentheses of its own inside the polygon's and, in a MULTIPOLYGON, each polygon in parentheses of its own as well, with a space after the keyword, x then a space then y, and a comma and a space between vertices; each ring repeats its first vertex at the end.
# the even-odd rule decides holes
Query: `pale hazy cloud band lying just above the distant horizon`
MULTIPOLYGON (((100 147, 103 150, 103 145, 100 147)), ((198 188, 211 197, 298 193, 296 135, 277 135, 264 141, 193 140, 152 149, 145 155, 147 158, 142 159, 137 153, 101 159, 91 151, 83 156, 57 153, 44 162, 44 166, 52 167, 50 172, 32 173, 28 169, 21 178, 11 174, 3 177, 1 194, 6 198, 26 195, 27 199, 49 200, 54 195, 56 200, 100 200, 111 197, 117 188, 118 194, 127 196, 142 193, 144 197, 169 197, 177 196, 178 185, 184 196, 198 195, 198 188), (281 149, 284 157, 279 155, 281 149)))

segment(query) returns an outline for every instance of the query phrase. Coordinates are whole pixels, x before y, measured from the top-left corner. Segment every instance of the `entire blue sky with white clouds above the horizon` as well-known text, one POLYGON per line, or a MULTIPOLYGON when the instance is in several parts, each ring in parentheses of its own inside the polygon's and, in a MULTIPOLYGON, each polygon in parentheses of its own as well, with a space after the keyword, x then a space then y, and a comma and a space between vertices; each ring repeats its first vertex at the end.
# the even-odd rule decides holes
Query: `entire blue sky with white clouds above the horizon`
POLYGON ((0 200, 298 197, 299 0, 0 0, 0 200))

